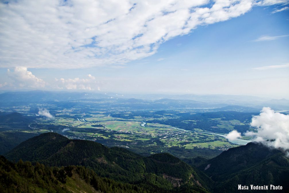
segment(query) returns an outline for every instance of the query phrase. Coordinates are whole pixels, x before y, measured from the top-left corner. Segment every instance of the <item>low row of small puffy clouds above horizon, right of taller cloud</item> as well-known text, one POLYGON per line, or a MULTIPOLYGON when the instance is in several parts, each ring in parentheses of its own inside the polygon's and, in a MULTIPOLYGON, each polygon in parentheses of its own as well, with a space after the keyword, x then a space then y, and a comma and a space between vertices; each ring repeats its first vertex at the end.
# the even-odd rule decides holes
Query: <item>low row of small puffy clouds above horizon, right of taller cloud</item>
POLYGON ((101 82, 95 80, 95 77, 91 74, 88 74, 87 76, 88 78, 55 78, 55 85, 53 85, 53 87, 67 90, 100 90, 99 85, 101 82))

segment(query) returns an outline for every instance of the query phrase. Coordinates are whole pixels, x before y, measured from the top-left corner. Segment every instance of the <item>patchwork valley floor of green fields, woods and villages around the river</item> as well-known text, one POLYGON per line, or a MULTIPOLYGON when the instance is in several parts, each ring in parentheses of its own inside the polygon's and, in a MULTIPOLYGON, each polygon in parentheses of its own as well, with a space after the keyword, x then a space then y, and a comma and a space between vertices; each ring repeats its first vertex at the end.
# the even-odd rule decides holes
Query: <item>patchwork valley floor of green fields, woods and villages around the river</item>
MULTIPOLYGON (((238 145, 217 134, 224 135, 236 128, 250 129, 248 119, 239 120, 236 119, 237 116, 230 118, 230 113, 222 114, 220 118, 211 118, 216 115, 204 116, 189 109, 168 112, 93 109, 83 112, 81 108, 63 109, 51 106, 50 110, 55 111, 53 119, 29 113, 25 107, 22 112, 32 117, 32 121, 27 125, 19 125, 18 130, 12 130, 15 127, 12 125, 2 126, 11 133, 20 131, 36 135, 57 132, 71 139, 92 140, 109 147, 129 148, 143 155, 169 152, 184 158, 195 156, 196 151, 209 152, 210 157, 236 147, 238 145), (215 154, 211 154, 212 151, 215 154)), ((251 139, 248 136, 242 138, 251 139)))

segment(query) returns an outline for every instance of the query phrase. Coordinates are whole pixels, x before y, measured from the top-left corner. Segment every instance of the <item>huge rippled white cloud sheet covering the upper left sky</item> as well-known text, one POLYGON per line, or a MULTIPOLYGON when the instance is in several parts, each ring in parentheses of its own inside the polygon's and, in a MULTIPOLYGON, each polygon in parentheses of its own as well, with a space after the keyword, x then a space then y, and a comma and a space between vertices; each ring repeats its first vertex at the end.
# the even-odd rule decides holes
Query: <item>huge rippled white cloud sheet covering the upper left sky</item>
POLYGON ((0 67, 124 64, 175 36, 285 0, 8 1, 0 3, 0 67), (27 50, 29 50, 27 52, 27 50))

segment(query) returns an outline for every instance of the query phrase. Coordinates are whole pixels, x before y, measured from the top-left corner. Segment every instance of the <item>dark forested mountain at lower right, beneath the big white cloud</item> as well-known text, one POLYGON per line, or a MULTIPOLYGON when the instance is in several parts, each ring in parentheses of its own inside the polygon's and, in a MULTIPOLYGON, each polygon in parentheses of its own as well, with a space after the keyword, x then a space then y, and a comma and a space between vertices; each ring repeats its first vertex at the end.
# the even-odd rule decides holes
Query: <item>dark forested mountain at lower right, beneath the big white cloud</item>
MULTIPOLYGON (((236 192, 241 185, 280 185, 289 191, 289 159, 281 150, 268 148, 260 143, 248 143, 224 151, 199 166, 215 181, 214 192, 236 192)), ((258 190, 246 190, 257 192, 258 190)))

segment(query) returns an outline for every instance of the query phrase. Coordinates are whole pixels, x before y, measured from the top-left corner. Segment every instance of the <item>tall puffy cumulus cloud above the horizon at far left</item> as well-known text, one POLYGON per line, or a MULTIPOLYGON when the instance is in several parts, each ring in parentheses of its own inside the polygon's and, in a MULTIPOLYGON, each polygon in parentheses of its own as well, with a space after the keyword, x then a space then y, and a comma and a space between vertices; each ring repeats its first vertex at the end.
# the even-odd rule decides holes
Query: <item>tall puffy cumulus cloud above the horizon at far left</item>
POLYGON ((14 71, 7 70, 7 75, 12 79, 14 84, 18 87, 25 88, 43 88, 45 81, 37 78, 32 72, 28 71, 25 67, 15 67, 14 71))

